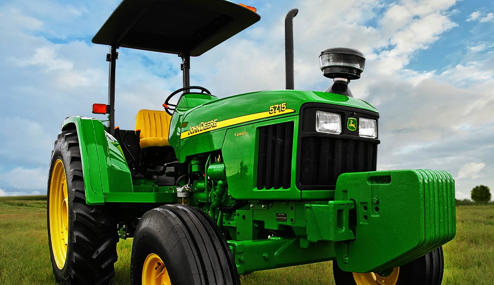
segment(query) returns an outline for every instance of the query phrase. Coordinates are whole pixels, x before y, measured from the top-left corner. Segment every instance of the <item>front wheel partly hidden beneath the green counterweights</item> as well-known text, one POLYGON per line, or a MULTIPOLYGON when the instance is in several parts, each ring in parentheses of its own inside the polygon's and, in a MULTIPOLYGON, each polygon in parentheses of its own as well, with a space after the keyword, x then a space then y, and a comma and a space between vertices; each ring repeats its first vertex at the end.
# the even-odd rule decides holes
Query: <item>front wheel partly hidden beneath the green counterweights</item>
POLYGON ((333 261, 336 285, 441 285, 444 272, 443 248, 386 273, 351 273, 339 269, 333 261))

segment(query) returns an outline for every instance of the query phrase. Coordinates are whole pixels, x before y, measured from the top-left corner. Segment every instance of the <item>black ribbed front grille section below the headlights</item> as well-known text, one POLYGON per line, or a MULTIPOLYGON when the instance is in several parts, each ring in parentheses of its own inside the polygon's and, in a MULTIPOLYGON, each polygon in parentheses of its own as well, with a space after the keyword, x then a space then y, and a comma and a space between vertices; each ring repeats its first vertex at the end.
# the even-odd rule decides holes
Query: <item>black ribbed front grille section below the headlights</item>
POLYGON ((376 170, 377 144, 348 139, 305 137, 299 145, 301 189, 334 189, 339 174, 376 170))

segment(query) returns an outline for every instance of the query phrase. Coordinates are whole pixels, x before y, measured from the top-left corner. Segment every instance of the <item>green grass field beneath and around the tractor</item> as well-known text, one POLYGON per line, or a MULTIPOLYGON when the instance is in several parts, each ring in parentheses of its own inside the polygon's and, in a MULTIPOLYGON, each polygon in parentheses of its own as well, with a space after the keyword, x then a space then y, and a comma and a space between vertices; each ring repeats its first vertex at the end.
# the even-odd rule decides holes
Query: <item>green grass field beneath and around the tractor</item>
MULTIPOLYGON (((494 205, 457 207, 458 231, 444 246, 443 285, 494 284, 494 205)), ((130 284, 132 239, 118 243, 115 285, 130 284)), ((331 285, 331 262, 254 272, 242 285, 331 285)), ((0 197, 0 284, 55 285, 46 196, 0 197)))

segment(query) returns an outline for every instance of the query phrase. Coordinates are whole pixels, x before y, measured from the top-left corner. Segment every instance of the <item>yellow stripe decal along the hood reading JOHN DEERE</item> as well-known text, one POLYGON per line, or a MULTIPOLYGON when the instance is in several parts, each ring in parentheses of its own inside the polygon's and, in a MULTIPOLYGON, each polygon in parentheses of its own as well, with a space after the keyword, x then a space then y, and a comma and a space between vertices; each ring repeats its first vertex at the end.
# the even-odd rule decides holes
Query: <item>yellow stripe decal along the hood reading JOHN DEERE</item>
POLYGON ((192 126, 192 127, 190 127, 189 130, 182 132, 180 134, 180 139, 189 138, 189 137, 192 137, 195 135, 211 132, 214 130, 230 127, 230 126, 237 125, 237 124, 242 124, 242 123, 246 123, 246 122, 250 122, 250 121, 265 119, 265 118, 279 116, 279 115, 285 115, 285 114, 289 114, 289 113, 293 113, 293 112, 295 112, 295 110, 293 110, 293 109, 285 109, 283 111, 278 111, 278 112, 273 113, 273 114, 270 114, 269 111, 266 111, 266 112, 255 113, 255 114, 245 115, 245 116, 241 116, 241 117, 226 119, 226 120, 219 121, 219 122, 217 120, 212 120, 212 121, 208 121, 208 122, 201 122, 199 125, 192 126))

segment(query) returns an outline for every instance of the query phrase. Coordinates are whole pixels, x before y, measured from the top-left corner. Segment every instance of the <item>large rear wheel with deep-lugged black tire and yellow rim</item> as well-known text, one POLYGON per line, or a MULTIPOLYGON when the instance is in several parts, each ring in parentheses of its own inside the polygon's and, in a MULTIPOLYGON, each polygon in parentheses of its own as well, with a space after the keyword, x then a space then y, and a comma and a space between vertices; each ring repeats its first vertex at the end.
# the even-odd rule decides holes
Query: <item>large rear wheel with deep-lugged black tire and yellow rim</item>
POLYGON ((108 284, 115 275, 117 224, 110 206, 86 204, 75 130, 58 135, 48 178, 48 244, 62 284, 108 284))

